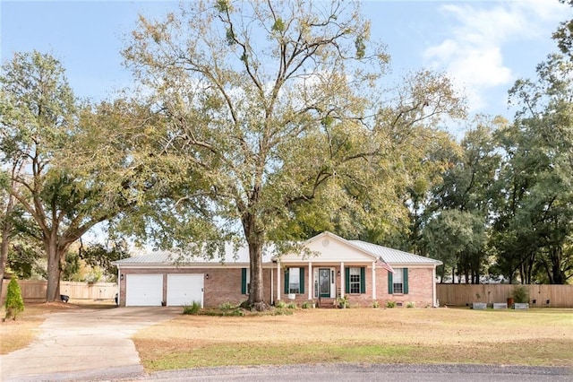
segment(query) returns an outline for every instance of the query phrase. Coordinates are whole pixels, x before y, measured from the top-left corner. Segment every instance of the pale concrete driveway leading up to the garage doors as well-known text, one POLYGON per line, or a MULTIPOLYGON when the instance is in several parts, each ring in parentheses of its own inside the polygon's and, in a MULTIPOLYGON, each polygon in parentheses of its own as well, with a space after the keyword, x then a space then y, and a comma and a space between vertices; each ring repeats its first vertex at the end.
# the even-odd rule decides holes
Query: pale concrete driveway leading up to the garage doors
POLYGON ((49 315, 25 349, 0 356, 0 380, 137 378, 140 357, 130 337, 171 319, 179 307, 80 309, 49 315))

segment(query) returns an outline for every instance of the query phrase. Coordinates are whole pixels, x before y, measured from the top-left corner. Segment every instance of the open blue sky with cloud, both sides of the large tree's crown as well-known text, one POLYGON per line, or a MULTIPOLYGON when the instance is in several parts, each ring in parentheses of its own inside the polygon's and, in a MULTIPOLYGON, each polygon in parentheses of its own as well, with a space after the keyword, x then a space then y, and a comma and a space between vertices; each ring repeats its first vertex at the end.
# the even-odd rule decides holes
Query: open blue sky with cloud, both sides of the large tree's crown
MULTIPOLYGON (((37 49, 63 63, 76 95, 101 100, 131 82, 120 50, 138 13, 156 16, 173 2, 4 1, 2 61, 37 49)), ((445 71, 464 89, 472 113, 512 117, 507 91, 557 50, 559 22, 573 17, 558 0, 364 1, 372 35, 392 57, 391 76, 422 67, 445 71)))

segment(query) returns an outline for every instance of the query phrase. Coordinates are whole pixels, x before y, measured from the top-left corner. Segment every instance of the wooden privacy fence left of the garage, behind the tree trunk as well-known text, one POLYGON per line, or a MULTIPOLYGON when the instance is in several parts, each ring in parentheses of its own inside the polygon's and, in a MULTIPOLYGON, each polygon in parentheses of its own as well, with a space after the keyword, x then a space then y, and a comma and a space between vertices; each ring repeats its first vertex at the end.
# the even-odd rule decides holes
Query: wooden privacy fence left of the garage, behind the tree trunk
MULTIPOLYGON (((8 282, 2 286, 2 300, 6 297, 8 282)), ((42 302, 46 300, 47 282, 18 280, 21 296, 25 302, 42 302)), ((70 302, 82 300, 105 301, 115 300, 117 284, 115 282, 60 282, 60 294, 70 296, 70 302)))

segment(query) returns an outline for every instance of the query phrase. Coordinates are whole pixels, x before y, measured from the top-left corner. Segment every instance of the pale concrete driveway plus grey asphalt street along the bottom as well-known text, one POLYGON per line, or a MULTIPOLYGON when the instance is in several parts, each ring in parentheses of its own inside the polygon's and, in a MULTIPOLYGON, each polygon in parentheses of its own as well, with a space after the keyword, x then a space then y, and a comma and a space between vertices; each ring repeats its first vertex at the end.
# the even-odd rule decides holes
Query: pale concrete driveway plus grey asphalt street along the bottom
MULTIPOLYGON (((290 365, 201 368, 146 375, 132 334, 181 308, 111 308, 47 317, 26 349, 0 356, 2 381, 573 381, 573 369, 480 365, 290 365)), ((573 365, 572 365, 573 366, 573 365)))

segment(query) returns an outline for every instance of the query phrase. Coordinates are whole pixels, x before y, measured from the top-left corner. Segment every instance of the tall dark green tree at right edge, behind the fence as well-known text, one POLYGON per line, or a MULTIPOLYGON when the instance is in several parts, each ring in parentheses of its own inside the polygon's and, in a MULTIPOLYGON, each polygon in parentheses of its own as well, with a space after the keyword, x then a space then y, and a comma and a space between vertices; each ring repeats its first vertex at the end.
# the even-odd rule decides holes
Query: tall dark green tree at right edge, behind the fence
MULTIPOLYGON (((506 161, 500 171, 495 246, 499 264, 521 282, 545 273, 564 283, 573 265, 564 261, 573 223, 573 64, 551 55, 537 67, 537 82, 511 90, 521 107, 513 126, 499 132, 506 161)), ((568 258, 568 256, 566 256, 568 258)))

